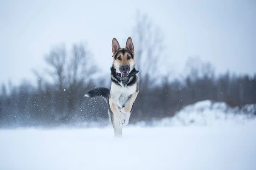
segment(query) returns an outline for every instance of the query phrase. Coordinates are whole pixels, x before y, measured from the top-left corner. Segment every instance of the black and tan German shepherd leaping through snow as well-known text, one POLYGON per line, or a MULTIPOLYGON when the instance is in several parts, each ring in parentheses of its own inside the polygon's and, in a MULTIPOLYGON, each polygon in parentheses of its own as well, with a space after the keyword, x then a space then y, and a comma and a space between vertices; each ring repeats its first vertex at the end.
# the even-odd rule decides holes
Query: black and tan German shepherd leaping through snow
POLYGON ((139 93, 139 71, 135 68, 134 45, 128 37, 125 48, 120 48, 116 38, 112 40, 113 63, 111 66, 111 88, 96 88, 84 96, 102 96, 108 103, 108 115, 113 125, 114 136, 122 136, 134 109, 139 93))

